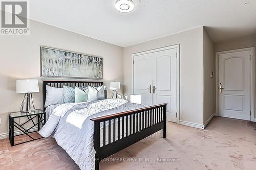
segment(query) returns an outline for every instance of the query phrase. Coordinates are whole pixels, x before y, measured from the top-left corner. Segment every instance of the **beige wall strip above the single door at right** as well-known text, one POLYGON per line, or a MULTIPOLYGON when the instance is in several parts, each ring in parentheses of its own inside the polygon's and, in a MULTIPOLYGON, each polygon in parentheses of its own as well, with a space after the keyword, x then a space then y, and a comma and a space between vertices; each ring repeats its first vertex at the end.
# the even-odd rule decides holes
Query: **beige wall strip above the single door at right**
MULTIPOLYGON (((239 48, 247 48, 247 47, 256 47, 256 34, 233 39, 230 41, 215 43, 215 52, 236 50, 239 48)), ((254 54, 254 56, 255 56, 255 54, 254 54)), ((256 61, 255 61, 255 64, 256 64, 256 61)), ((256 77, 255 77, 255 80, 256 80, 256 77)), ((256 89, 256 84, 255 84, 255 89, 256 89)), ((255 104, 255 106, 256 106, 256 104, 255 104)), ((254 113, 254 118, 256 118, 256 112, 254 113)))

